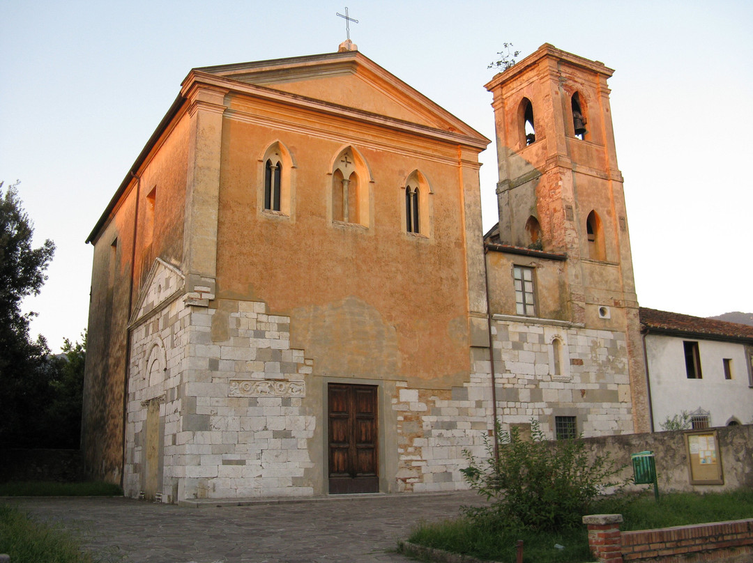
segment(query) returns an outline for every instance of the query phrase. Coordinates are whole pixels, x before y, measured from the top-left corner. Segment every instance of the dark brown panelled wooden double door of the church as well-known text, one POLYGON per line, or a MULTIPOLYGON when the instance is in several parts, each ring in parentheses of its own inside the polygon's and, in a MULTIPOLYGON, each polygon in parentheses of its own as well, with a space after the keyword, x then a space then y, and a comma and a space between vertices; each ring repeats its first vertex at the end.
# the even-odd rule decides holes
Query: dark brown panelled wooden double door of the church
POLYGON ((379 492, 377 386, 328 385, 329 491, 379 492))

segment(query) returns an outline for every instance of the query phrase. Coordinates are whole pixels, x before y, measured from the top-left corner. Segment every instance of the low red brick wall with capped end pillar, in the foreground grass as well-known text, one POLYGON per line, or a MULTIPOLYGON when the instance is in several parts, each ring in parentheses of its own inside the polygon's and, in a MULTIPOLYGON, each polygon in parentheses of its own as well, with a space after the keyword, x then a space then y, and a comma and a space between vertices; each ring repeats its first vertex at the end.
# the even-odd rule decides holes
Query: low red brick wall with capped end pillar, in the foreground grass
POLYGON ((599 563, 683 563, 753 559, 753 519, 620 532, 619 514, 584 516, 599 563))

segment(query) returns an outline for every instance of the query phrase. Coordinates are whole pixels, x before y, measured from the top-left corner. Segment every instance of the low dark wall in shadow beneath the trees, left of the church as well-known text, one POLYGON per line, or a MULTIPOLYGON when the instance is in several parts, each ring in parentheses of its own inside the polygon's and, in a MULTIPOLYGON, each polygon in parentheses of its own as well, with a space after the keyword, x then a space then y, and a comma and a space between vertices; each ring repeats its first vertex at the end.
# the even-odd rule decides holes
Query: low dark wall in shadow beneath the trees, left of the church
POLYGON ((3 449, 0 459, 0 482, 84 480, 78 449, 3 449))

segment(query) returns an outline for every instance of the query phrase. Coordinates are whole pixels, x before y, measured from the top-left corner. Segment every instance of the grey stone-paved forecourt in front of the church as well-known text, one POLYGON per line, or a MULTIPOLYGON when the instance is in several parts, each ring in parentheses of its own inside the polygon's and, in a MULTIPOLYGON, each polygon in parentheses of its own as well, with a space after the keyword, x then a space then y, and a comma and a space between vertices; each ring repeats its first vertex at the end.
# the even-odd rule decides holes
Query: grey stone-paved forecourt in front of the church
POLYGON ((452 518, 473 491, 271 499, 178 507, 128 498, 3 498, 84 534, 105 561, 133 563, 408 563, 396 553, 419 520, 452 518))

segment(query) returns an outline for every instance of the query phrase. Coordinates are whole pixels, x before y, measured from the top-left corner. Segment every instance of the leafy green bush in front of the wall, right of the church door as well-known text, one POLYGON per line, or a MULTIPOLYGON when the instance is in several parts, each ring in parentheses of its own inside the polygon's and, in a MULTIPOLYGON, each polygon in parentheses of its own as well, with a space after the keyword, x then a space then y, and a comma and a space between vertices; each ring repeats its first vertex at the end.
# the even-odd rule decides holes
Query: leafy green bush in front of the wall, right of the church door
POLYGON ((617 467, 607 453, 590 459, 583 440, 548 442, 537 420, 531 420, 531 439, 520 429, 503 432, 495 424, 498 456, 484 436, 486 459, 468 450, 465 480, 492 500, 486 507, 465 507, 468 518, 498 529, 556 531, 581 525, 594 498, 607 487, 621 489, 627 480, 615 477, 617 467))

